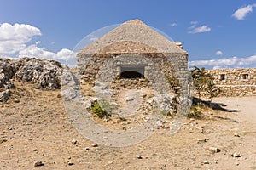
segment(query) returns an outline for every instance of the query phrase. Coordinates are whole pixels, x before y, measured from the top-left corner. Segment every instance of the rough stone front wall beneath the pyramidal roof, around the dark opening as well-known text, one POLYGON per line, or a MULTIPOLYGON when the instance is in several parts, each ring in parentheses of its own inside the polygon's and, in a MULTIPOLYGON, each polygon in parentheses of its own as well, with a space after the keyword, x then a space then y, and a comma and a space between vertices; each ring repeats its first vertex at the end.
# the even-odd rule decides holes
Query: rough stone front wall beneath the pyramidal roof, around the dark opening
MULTIPOLYGON (((117 54, 78 56, 78 71, 82 83, 91 83, 96 79, 101 82, 111 82, 119 77, 120 65, 145 65, 144 76, 157 91, 172 90, 177 93, 186 87, 189 77, 187 55, 184 54, 117 54), (183 85, 182 85, 182 84, 183 85), (169 87, 166 85, 170 85, 169 87), (181 87, 183 86, 183 87, 181 87)), ((183 89, 186 91, 188 89, 183 89)))

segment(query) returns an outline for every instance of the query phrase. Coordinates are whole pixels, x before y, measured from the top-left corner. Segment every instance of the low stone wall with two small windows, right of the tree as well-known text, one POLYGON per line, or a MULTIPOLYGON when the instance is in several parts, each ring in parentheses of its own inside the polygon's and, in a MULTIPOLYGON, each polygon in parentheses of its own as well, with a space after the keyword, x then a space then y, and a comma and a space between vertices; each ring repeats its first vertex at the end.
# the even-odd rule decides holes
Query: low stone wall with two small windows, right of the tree
POLYGON ((256 68, 209 70, 222 96, 256 95, 256 68))

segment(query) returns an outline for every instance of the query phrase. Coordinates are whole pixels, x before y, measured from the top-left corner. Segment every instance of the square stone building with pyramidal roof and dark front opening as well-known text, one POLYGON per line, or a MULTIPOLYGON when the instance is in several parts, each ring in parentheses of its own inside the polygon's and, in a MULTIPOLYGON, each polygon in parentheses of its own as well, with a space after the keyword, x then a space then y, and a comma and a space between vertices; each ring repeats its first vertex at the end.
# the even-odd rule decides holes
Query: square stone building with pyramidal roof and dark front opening
POLYGON ((141 20, 126 21, 90 43, 77 61, 79 74, 88 83, 145 78, 162 89, 171 82, 177 90, 189 75, 188 54, 181 43, 171 42, 141 20))

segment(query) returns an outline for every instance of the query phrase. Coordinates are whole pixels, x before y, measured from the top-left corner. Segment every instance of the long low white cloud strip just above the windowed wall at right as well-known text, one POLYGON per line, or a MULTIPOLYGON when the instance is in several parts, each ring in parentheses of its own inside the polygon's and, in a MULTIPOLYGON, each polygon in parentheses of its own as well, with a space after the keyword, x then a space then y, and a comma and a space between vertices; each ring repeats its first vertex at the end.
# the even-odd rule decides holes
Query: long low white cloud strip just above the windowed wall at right
POLYGON ((211 60, 197 60, 189 62, 189 66, 201 66, 208 69, 212 68, 255 68, 256 67, 256 55, 252 55, 247 58, 231 57, 228 59, 211 59, 211 60))

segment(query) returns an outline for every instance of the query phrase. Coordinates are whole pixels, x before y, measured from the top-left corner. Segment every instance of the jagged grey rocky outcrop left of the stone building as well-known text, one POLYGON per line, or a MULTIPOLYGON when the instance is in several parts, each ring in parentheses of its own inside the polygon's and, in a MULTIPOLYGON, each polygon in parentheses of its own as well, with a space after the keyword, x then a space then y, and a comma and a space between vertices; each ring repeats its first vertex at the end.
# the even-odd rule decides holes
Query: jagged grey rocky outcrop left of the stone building
POLYGON ((37 88, 61 88, 61 74, 68 69, 55 60, 21 58, 17 60, 0 59, 0 101, 6 102, 10 90, 15 88, 13 80, 19 82, 32 82, 37 88))

